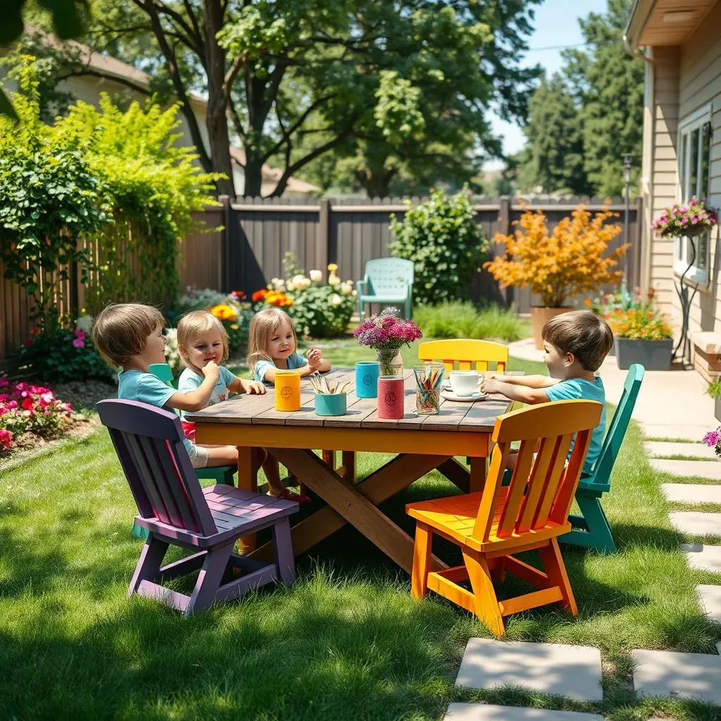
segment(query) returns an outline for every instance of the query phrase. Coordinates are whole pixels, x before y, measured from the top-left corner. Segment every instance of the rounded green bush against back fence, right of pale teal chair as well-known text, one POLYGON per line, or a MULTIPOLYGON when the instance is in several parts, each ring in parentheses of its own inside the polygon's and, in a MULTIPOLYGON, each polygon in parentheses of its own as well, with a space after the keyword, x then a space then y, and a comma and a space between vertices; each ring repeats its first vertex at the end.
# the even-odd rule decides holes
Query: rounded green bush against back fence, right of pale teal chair
POLYGON ((413 296, 418 303, 466 300, 472 274, 487 241, 475 223, 469 193, 434 190, 430 200, 409 202, 403 220, 391 216, 392 255, 415 264, 413 296))

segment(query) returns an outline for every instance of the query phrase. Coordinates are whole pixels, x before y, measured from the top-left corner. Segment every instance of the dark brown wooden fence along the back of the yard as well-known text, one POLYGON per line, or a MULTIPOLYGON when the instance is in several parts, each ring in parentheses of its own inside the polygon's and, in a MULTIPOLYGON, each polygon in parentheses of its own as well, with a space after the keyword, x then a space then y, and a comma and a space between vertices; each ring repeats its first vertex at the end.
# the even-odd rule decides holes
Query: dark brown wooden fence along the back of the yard
MULTIPOLYGON (((373 258, 390 255, 390 216, 401 219, 406 211, 400 199, 376 198, 374 200, 295 200, 286 198, 238 198, 230 203, 221 198, 226 213, 225 239, 226 263, 224 265, 224 290, 242 290, 248 295, 267 285, 270 278, 283 274, 283 255, 291 252, 298 267, 306 273, 316 268, 325 272, 329 262, 338 265, 337 274, 343 280, 363 278, 366 262, 373 258)), ((412 198, 420 203, 423 198, 412 198)), ((531 210, 543 211, 547 216, 549 230, 575 210, 581 198, 552 200, 535 198, 528 201, 531 210)), ((606 207, 602 198, 585 198, 590 211, 606 207)), ((475 198, 476 221, 487 239, 492 241, 497 233, 510 234, 513 221, 523 212, 523 206, 508 197, 475 198)), ((611 211, 619 213, 614 222, 624 223, 624 203, 611 199, 611 211)), ((639 285, 640 279, 640 225, 641 199, 634 198, 629 205, 629 242, 627 273, 629 286, 639 285)), ((609 252, 624 243, 623 234, 609 244, 609 252)), ((504 252, 503 246, 490 243, 486 260, 504 252)), ((610 290, 607 289, 607 290, 610 290)), ((528 313, 536 298, 531 298, 527 288, 506 288, 501 291, 485 270, 477 270, 471 283, 474 301, 490 301, 516 306, 519 312, 528 313)))

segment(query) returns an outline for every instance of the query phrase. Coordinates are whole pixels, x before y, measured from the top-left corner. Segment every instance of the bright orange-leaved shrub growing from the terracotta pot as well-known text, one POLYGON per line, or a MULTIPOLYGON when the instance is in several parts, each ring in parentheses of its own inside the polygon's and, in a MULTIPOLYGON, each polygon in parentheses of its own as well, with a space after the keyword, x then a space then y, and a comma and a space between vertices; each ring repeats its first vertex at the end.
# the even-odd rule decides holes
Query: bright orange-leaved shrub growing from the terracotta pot
POLYGON ((501 288, 530 286, 544 306, 559 308, 570 296, 621 280, 622 273, 613 269, 628 244, 603 255, 622 231, 619 225, 605 223, 617 216, 602 211, 592 217, 582 204, 549 233, 544 213, 524 207, 521 220, 513 224, 518 226, 513 235, 498 233, 494 238, 505 243, 508 257, 496 256, 483 267, 501 288))

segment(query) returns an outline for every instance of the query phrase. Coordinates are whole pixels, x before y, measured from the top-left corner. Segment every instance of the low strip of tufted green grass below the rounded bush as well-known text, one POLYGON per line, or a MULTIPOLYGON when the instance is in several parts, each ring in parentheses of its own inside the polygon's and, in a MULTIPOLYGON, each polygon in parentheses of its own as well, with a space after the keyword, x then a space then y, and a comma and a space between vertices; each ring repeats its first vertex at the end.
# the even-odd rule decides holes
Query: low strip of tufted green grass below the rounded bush
POLYGON ((477 338, 512 342, 530 335, 528 322, 499 306, 478 309, 472 303, 420 305, 413 319, 425 338, 477 338))

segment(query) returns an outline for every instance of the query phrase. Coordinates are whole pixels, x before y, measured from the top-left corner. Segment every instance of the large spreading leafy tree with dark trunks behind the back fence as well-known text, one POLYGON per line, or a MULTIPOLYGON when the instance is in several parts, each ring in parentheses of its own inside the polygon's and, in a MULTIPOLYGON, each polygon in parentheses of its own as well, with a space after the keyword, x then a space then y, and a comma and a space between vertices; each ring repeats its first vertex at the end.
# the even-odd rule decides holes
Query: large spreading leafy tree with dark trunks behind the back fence
POLYGON ((94 0, 91 44, 143 69, 162 58, 206 170, 230 175, 230 118, 249 195, 269 159, 283 165, 279 195, 350 138, 370 148, 366 177, 382 189, 395 157, 451 168, 497 152, 483 114, 492 101, 523 112, 536 71, 516 58, 536 1, 94 0), (193 90, 208 97, 207 153, 193 90))

